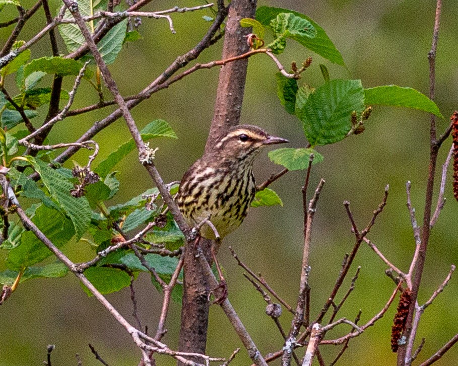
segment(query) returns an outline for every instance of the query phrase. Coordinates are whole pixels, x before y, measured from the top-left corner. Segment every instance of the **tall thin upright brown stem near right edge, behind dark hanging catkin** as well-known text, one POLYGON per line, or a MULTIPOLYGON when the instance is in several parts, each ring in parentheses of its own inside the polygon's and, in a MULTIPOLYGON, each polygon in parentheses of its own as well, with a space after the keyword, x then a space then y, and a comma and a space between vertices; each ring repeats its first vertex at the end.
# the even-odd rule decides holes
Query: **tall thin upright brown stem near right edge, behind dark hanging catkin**
MULTIPOLYGON (((439 38, 439 25, 440 25, 440 14, 442 8, 442 1, 437 0, 436 5, 436 16, 434 21, 434 31, 431 50, 428 53, 429 60, 429 98, 434 100, 435 95, 435 59, 437 40, 439 38)), ((406 321, 406 330, 403 337, 406 338, 407 344, 413 344, 415 339, 410 340, 411 336, 414 336, 415 332, 412 332, 412 322, 415 313, 415 304, 417 303, 418 290, 421 284, 421 277, 423 274, 423 268, 426 259, 426 249, 429 242, 429 235, 431 232, 431 207, 434 193, 434 175, 436 172, 437 155, 439 152, 440 145, 436 141, 436 122, 435 116, 431 115, 430 119, 430 158, 429 158, 429 169, 428 169, 428 180, 426 183, 426 198, 425 198, 425 211, 423 216, 423 226, 421 229, 421 244, 418 251, 417 265, 415 268, 415 275, 413 278, 412 285, 412 303, 409 308, 409 315, 406 321)), ((412 349, 406 345, 401 345, 398 350, 398 366, 405 366, 411 363, 412 349)))

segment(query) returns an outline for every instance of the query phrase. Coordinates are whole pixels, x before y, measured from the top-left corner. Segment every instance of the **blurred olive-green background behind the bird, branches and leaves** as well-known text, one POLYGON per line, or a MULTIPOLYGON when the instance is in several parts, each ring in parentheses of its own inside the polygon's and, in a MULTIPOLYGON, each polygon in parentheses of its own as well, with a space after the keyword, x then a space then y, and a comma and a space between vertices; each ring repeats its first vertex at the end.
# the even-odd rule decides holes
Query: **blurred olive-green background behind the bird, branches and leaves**
MULTIPOLYGON (((33 2, 24 0, 23 4, 31 7, 33 2)), ((202 3, 193 0, 156 1, 146 7, 145 11, 199 4, 202 3)), ((288 65, 292 60, 301 62, 311 55, 312 66, 303 74, 303 81, 307 84, 318 86, 322 83, 318 64, 324 63, 334 79, 361 79, 364 87, 389 84, 409 86, 428 94, 427 53, 431 47, 434 1, 278 0, 259 2, 258 5, 289 8, 308 15, 324 28, 341 51, 348 69, 331 64, 289 40, 280 60, 288 65)), ((58 3, 51 2, 51 7, 57 9, 58 3)), ((440 132, 448 125, 448 116, 457 108, 456 14, 458 3, 444 2, 436 62, 436 102, 445 116, 444 120, 438 120, 440 132)), ((210 25, 202 19, 204 15, 211 16, 211 13, 201 11, 172 15, 177 31, 175 35, 170 33, 165 20, 143 19, 140 33, 144 39, 124 46, 117 61, 110 66, 122 95, 138 93, 176 56, 192 48, 210 25)), ((0 22, 15 16, 14 7, 6 7, 0 13, 0 22)), ((40 9, 33 20, 27 23, 20 39, 29 39, 44 24, 44 14, 40 9)), ((11 29, 1 29, 0 39, 6 39, 11 29)), ((60 38, 59 41, 64 52, 63 42, 60 38)), ((205 51, 199 61, 219 59, 221 47, 222 41, 205 51)), ((49 54, 47 37, 32 47, 33 58, 49 54)), ((276 71, 268 57, 256 55, 250 59, 241 122, 257 124, 273 134, 288 138, 291 147, 303 147, 306 141, 299 121, 287 114, 277 99, 276 71)), ((154 141, 159 147, 156 164, 166 181, 179 180, 203 152, 213 115, 218 72, 218 68, 197 71, 169 89, 154 94, 150 100, 133 110, 139 127, 153 119, 162 118, 170 123, 179 137, 178 140, 154 141)), ((7 85, 12 86, 14 81, 9 83, 7 85)), ((66 78, 64 84, 70 89, 73 81, 66 78)), ((109 99, 109 93, 105 92, 105 95, 109 99)), ((83 83, 73 108, 96 102, 94 90, 83 83)), ((110 110, 113 108, 66 119, 54 128, 51 142, 74 141, 110 110)), ((43 110, 41 115, 44 116, 44 113, 43 110)), ((39 118, 33 122, 41 123, 39 118)), ((354 236, 350 232, 342 204, 344 200, 351 202, 357 223, 363 227, 381 200, 383 187, 389 184, 388 205, 369 238, 393 263, 407 271, 415 243, 405 204, 405 184, 407 180, 412 181, 413 204, 417 208, 417 218, 421 221, 427 177, 428 129, 429 115, 424 112, 375 107, 362 135, 317 149, 324 155, 324 162, 312 170, 311 187, 320 178, 324 178, 326 184, 313 228, 310 259, 312 318, 329 296, 342 258, 354 244, 354 236)), ((128 138, 124 121, 116 121, 96 136, 101 147, 98 159, 107 156, 128 138)), ((450 140, 445 143, 440 154, 438 170, 449 146, 450 140)), ((73 160, 83 164, 86 157, 87 153, 81 152, 73 160)), ((68 166, 72 166, 72 162, 68 162, 68 166)), ((138 163, 136 153, 129 155, 117 169, 121 181, 117 201, 125 201, 152 186, 150 177, 138 163)), ((263 153, 256 163, 257 180, 260 182, 280 169, 263 153)), ((229 299, 264 354, 280 349, 283 341, 272 320, 264 313, 263 299, 244 279, 228 246, 231 245, 253 271, 261 272, 270 285, 294 305, 302 260, 300 189, 303 180, 304 172, 292 172, 274 183, 272 188, 282 197, 284 207, 252 209, 241 228, 225 239, 219 254, 227 272, 229 299)), ((420 303, 424 303, 443 281, 450 264, 458 264, 458 204, 453 200, 449 182, 446 190, 448 201, 432 232, 428 248, 420 303)), ((75 261, 89 259, 92 255, 88 244, 84 242, 69 244, 64 247, 64 252, 75 261)), ((364 324, 384 306, 393 283, 384 275, 385 265, 367 246, 363 246, 337 300, 345 294, 358 265, 362 268, 356 289, 340 315, 353 319, 358 310, 362 309, 360 324, 364 324)), ((4 265, 0 264, 0 270, 3 269, 4 265)), ((141 320, 153 330, 157 325, 162 296, 144 273, 140 274, 136 289, 141 320)), ((443 294, 423 315, 418 341, 426 337, 426 344, 419 356, 420 360, 429 357, 456 333, 457 293, 458 281, 452 279, 443 294)), ((129 296, 127 288, 107 298, 128 320, 133 321, 129 296)), ((396 364, 396 354, 390 350, 389 339, 395 307, 396 304, 375 327, 350 342, 350 349, 340 364, 396 364)), ((177 346, 179 311, 179 305, 172 304, 167 322, 168 333, 164 338, 171 348, 177 346)), ((140 357, 126 332, 94 298, 87 297, 77 279, 71 275, 63 279, 37 279, 21 284, 0 307, 0 319, 1 366, 39 365, 46 358, 46 345, 50 343, 56 345, 52 354, 53 366, 77 364, 75 353, 82 356, 85 366, 100 364, 91 354, 88 343, 93 344, 110 365, 137 365, 140 357)), ((280 320, 289 329, 289 314, 284 313, 280 320)), ((347 326, 342 326, 329 333, 328 337, 344 334, 348 330, 347 326)), ((241 347, 241 343, 224 313, 219 307, 212 307, 208 353, 213 356, 229 356, 237 347, 241 347)), ((323 346, 320 349, 326 363, 329 363, 340 347, 323 346)), ((458 347, 455 347, 436 364, 457 363, 458 347)), ((159 364, 172 365, 174 362, 167 357, 158 357, 159 364)), ((237 355, 233 364, 250 364, 244 350, 237 355)))

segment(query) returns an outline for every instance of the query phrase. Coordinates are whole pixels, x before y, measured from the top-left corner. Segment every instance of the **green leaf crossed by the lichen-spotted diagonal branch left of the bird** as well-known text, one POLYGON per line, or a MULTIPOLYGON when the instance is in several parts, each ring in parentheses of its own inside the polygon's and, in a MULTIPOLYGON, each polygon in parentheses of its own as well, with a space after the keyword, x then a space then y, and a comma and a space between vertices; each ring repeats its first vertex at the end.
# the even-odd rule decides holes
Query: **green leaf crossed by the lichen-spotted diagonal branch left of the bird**
MULTIPOLYGON (((175 132, 172 130, 170 125, 162 120, 156 119, 145 126, 140 132, 143 140, 148 140, 153 137, 172 137, 177 138, 175 132)), ((100 164, 94 169, 94 171, 101 177, 105 177, 114 166, 119 163, 128 153, 135 150, 135 142, 133 139, 119 145, 119 147, 113 151, 108 157, 100 162, 100 164)))

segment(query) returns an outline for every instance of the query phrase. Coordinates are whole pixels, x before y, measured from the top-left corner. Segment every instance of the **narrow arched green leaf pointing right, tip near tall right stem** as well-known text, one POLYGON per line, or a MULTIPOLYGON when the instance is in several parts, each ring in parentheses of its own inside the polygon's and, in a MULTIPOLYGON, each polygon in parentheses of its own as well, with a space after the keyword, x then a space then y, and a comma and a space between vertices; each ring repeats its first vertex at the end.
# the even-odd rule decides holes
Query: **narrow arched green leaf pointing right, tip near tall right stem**
POLYGON ((381 87, 364 89, 366 105, 380 104, 385 106, 406 107, 419 109, 444 118, 436 103, 426 95, 412 88, 384 85, 381 87))

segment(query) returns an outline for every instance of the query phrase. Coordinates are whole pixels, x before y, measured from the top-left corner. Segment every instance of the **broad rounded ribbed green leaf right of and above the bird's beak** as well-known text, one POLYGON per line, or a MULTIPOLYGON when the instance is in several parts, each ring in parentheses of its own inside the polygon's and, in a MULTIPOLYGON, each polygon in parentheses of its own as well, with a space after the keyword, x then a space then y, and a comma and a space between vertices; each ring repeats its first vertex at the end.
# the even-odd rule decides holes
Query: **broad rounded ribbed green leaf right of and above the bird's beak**
POLYGON ((360 80, 332 80, 310 94, 300 109, 305 136, 312 146, 342 140, 351 129, 351 114, 364 110, 360 80))

